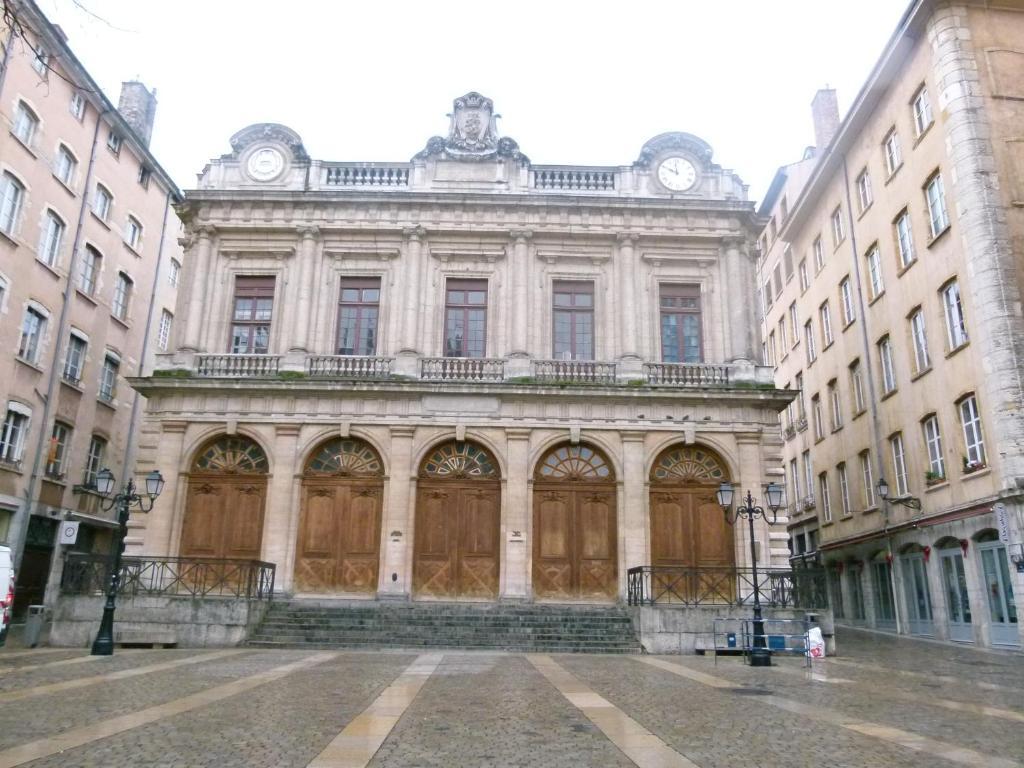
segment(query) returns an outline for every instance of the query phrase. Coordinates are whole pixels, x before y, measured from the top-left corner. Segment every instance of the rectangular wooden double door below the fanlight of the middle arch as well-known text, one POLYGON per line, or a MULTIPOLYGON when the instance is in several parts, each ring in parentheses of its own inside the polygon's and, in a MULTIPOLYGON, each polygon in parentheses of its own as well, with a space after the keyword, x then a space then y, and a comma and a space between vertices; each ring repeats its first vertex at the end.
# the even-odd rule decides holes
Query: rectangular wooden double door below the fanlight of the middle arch
POLYGON ((421 480, 413 549, 416 596, 497 599, 500 529, 498 482, 421 480))

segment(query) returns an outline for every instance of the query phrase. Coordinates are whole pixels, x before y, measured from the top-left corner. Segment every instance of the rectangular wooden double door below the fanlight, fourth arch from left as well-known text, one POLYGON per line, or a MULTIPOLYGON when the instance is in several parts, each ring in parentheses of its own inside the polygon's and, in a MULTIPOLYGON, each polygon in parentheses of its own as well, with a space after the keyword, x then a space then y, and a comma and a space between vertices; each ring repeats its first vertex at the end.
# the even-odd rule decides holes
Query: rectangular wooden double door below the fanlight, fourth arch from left
POLYGON ((614 600, 617 541, 614 485, 535 485, 535 596, 614 600))

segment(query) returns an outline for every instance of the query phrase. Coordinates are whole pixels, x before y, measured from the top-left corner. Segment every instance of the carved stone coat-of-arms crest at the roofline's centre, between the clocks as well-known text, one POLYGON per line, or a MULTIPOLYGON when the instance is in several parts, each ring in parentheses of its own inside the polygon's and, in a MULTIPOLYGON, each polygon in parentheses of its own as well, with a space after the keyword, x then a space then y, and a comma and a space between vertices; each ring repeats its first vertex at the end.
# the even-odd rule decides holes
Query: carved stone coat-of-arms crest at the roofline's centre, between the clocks
POLYGON ((427 145, 417 153, 418 160, 458 160, 480 162, 510 159, 522 163, 529 160, 519 152, 519 144, 498 134, 495 102, 486 96, 470 91, 455 99, 449 117, 447 136, 432 136, 427 145))

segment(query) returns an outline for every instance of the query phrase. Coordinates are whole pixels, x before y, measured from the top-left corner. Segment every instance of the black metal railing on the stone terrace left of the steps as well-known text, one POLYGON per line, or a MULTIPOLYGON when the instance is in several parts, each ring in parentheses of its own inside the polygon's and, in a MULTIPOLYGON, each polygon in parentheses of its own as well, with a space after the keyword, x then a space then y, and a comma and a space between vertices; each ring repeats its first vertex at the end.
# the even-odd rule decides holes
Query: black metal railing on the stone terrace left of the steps
MULTIPOLYGON (((104 594, 111 581, 110 567, 106 555, 70 552, 60 575, 60 594, 104 594)), ((272 562, 261 560, 125 557, 118 594, 269 600, 275 570, 272 562)))

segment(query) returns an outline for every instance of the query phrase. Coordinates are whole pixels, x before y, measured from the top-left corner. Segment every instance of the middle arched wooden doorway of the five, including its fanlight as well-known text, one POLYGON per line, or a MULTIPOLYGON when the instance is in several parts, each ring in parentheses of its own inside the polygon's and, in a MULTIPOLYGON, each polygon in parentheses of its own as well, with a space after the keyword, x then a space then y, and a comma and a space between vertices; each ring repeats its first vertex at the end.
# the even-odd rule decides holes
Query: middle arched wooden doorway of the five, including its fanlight
POLYGON ((431 451, 416 492, 413 591, 417 597, 498 597, 501 475, 481 445, 431 451))

